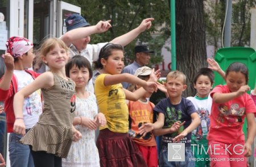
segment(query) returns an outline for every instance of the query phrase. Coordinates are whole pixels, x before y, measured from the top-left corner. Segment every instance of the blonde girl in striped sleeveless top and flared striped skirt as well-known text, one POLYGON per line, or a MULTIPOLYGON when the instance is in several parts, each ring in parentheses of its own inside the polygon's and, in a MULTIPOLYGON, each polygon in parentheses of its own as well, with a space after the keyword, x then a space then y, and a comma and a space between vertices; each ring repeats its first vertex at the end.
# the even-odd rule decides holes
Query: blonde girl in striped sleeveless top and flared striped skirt
POLYGON ((60 39, 46 39, 39 53, 50 72, 41 74, 14 97, 14 132, 24 135, 24 98, 38 89, 42 90, 43 113, 38 123, 20 139, 20 143, 30 145, 36 167, 62 166, 61 158, 67 157, 72 141, 81 139, 81 133, 72 125, 76 92, 75 83, 65 75, 67 51, 68 48, 60 39))

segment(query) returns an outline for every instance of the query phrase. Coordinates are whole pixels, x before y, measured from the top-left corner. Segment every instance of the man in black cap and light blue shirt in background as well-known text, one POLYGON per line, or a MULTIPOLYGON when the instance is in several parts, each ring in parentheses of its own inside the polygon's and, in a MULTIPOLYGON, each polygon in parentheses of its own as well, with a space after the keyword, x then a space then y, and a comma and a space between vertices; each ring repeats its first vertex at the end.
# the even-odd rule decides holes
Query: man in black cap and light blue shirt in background
MULTIPOLYGON (((122 73, 134 74, 138 68, 141 68, 144 65, 148 65, 150 62, 150 53, 154 53, 154 51, 150 51, 147 45, 135 46, 135 60, 132 64, 125 66, 125 68, 122 70, 122 73)), ((127 89, 130 84, 127 82, 122 82, 122 85, 123 88, 127 89)))

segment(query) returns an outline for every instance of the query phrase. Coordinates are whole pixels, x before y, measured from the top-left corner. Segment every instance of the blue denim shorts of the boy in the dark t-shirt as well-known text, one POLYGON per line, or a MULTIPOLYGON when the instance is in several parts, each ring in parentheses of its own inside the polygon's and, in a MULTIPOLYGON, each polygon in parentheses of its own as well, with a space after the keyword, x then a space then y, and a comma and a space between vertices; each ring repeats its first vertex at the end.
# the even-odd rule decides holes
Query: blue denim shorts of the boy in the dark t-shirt
POLYGON ((193 167, 195 161, 193 161, 193 154, 191 147, 185 147, 185 161, 168 161, 168 147, 162 145, 159 157, 159 167, 193 167))

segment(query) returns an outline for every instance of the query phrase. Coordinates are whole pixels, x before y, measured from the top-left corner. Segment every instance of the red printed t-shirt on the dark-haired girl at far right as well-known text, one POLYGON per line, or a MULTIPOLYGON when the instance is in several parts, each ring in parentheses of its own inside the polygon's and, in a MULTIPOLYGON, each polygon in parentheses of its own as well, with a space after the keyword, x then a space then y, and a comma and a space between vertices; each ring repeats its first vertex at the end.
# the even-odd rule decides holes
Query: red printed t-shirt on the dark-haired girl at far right
MULTIPOLYGON (((230 91, 228 86, 218 85, 214 87, 210 96, 213 97, 214 93, 230 93, 230 91)), ((246 113, 251 112, 256 112, 256 107, 247 93, 225 103, 212 101, 207 139, 229 144, 245 140, 242 126, 246 113)))

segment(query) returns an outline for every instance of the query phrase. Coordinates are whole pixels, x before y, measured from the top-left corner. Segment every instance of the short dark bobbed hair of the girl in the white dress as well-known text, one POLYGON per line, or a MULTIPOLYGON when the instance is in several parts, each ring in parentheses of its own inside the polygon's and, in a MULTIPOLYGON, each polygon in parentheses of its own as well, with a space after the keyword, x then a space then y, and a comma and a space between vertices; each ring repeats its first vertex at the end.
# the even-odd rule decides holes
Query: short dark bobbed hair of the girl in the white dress
POLYGON ((88 81, 90 81, 90 79, 92 78, 92 66, 90 65, 89 60, 81 55, 76 55, 76 56, 72 57, 72 59, 69 60, 68 63, 65 65, 66 76, 69 77, 69 71, 75 65, 79 69, 88 68, 88 70, 89 70, 89 80, 88 81))

